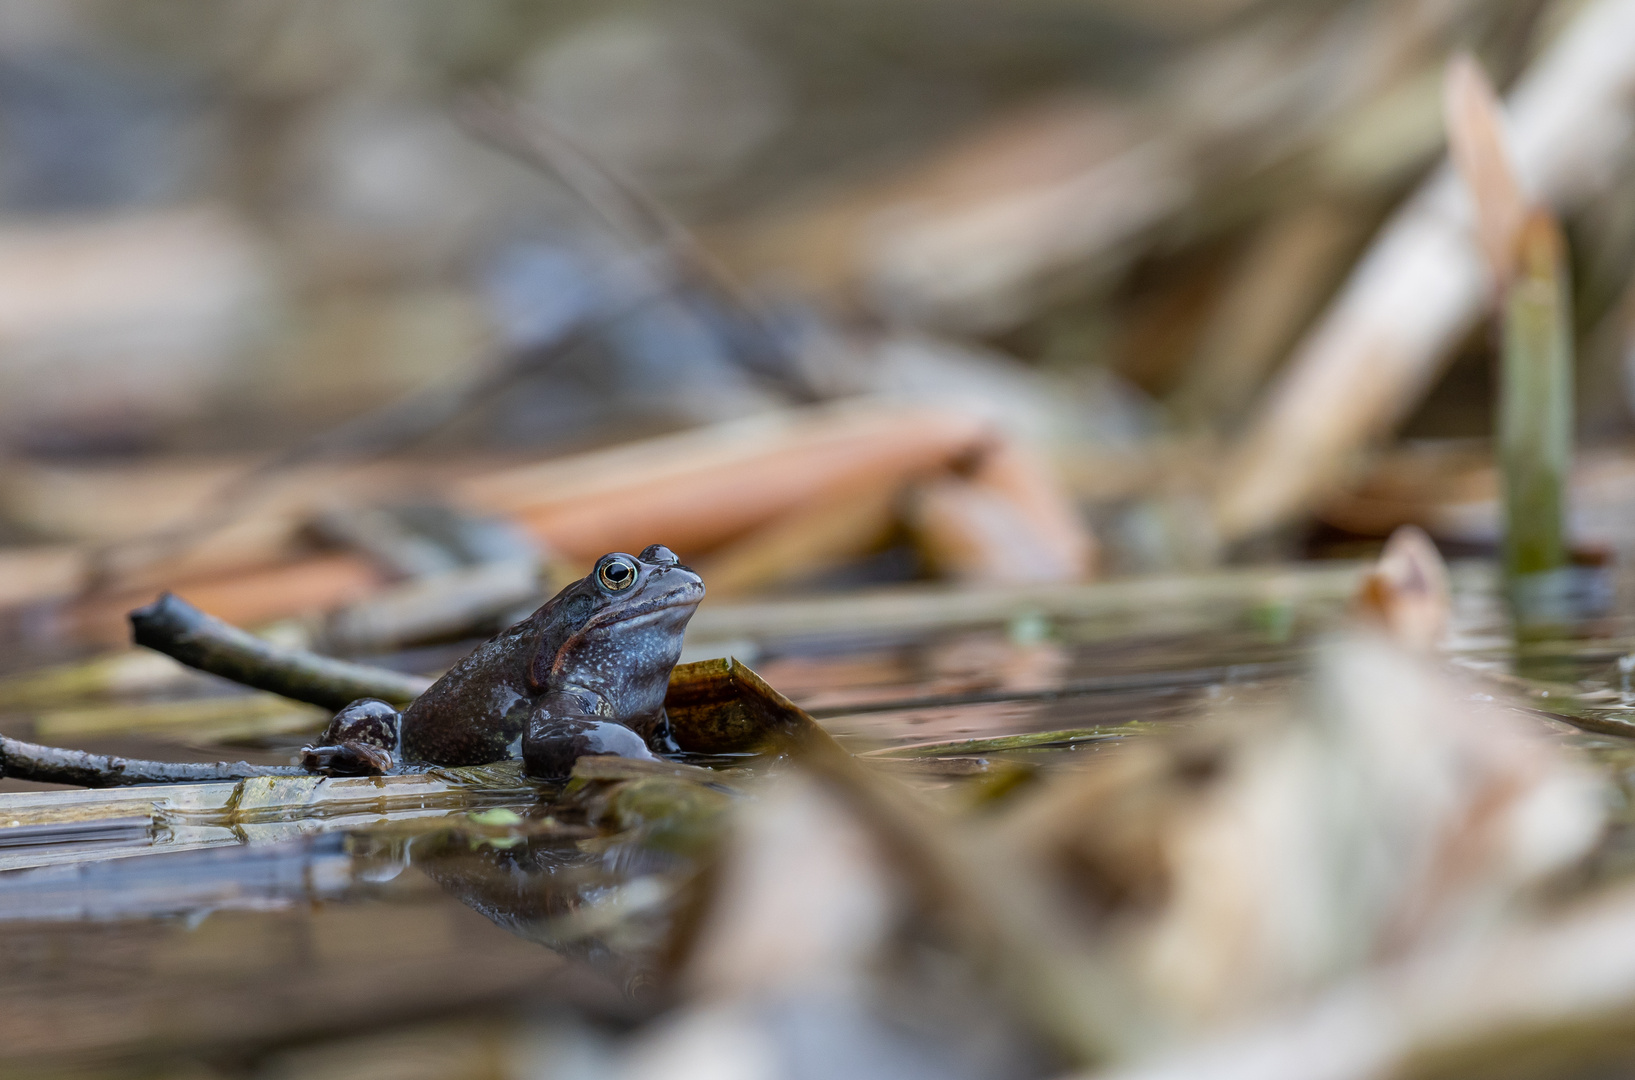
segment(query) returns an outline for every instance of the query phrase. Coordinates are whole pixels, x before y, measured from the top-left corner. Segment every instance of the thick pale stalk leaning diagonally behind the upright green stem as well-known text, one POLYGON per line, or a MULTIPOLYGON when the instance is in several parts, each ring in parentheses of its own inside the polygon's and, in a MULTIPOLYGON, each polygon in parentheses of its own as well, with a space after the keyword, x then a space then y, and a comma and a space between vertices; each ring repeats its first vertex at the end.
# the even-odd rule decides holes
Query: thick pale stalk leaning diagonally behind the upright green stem
MULTIPOLYGON (((1509 98, 1527 190, 1571 208, 1607 181, 1635 123, 1635 0, 1594 0, 1509 98)), ((1488 270, 1444 167, 1391 217, 1267 392, 1225 464, 1216 528, 1239 539, 1318 502, 1432 384, 1478 319, 1488 270)))

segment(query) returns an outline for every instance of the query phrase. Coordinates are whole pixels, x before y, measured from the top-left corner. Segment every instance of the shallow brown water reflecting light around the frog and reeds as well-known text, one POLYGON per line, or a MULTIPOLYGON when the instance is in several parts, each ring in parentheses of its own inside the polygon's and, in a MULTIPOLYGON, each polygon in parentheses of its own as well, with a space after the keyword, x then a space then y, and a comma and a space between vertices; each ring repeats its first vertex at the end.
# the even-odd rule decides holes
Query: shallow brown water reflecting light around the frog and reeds
MULTIPOLYGON (((1073 768, 1149 724, 1283 686, 1336 611, 1180 609, 868 642, 768 639, 755 642, 755 668, 850 750, 912 756, 914 768, 893 771, 937 789, 1006 761, 1073 768), (1038 734, 1053 735, 1017 739, 1038 734)), ((1516 667, 1493 634, 1491 605, 1467 598, 1460 619, 1467 663, 1516 667)), ((1617 662, 1630 629, 1604 624, 1539 663, 1578 691, 1619 691, 1630 704, 1617 662)), ((0 727, 28 737, 29 716, 7 714, 0 727)), ((1620 740, 1563 737, 1635 773, 1620 740)), ((249 748, 276 761, 299 742, 299 730, 213 740, 195 729, 80 745, 199 760, 249 748)), ((556 1010, 615 1026, 659 1010, 698 855, 721 806, 746 797, 744 773, 710 786, 695 773, 603 778, 566 796, 515 773, 456 773, 419 788, 199 784, 114 796, 8 783, 5 1062, 46 1075, 181 1065, 190 1075, 283 1075, 296 1062, 320 1075, 363 1052, 374 1065, 396 1062, 397 1072, 374 1075, 419 1075, 427 1062, 437 1070, 423 1075, 505 1075, 510 1067, 495 1062, 525 1052, 528 1033, 556 1010), (422 1046, 412 1033, 432 1029, 446 1034, 443 1049, 404 1059, 404 1047, 422 1046), (371 1033, 389 1039, 370 1042, 371 1033)), ((1602 872, 1635 863, 1625 850, 1635 840, 1615 838, 1602 872)))

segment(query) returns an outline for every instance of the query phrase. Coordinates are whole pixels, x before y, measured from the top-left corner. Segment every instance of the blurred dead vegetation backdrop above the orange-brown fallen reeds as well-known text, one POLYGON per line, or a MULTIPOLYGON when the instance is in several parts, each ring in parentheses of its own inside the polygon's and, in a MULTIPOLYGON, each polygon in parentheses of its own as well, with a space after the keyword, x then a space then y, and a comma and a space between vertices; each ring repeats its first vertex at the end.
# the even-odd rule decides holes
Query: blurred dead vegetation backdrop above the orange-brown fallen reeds
MULTIPOLYGON (((1434 524, 1457 498, 1424 484, 1413 507, 1306 500, 1316 534, 1288 511, 1220 529, 1207 503, 1221 448, 1440 158, 1447 56, 1503 88, 1581 7, 13 0, 0 440, 13 462, 286 448, 590 319, 386 448, 561 453, 930 394, 1051 451, 1104 570, 1434 524), (651 237, 477 137, 461 109, 484 91, 662 204, 754 319, 688 283, 639 299, 651 237)), ((1635 157, 1601 157, 1566 209, 1579 428, 1615 440, 1635 157)), ((1388 435, 1489 433, 1491 332, 1467 319, 1436 351, 1336 475, 1367 487, 1388 435)), ((15 542, 72 539, 15 487, 15 542)))

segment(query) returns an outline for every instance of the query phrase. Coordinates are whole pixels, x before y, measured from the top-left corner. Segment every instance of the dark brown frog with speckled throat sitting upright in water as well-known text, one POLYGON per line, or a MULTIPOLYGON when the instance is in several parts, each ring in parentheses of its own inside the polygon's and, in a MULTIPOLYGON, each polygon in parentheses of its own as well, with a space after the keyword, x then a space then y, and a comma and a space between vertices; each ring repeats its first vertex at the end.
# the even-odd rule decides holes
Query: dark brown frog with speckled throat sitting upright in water
POLYGON ((562 779, 585 755, 675 752, 664 712, 703 578, 662 544, 608 552, 533 614, 455 663, 407 709, 360 698, 301 763, 332 776, 522 758, 562 779))

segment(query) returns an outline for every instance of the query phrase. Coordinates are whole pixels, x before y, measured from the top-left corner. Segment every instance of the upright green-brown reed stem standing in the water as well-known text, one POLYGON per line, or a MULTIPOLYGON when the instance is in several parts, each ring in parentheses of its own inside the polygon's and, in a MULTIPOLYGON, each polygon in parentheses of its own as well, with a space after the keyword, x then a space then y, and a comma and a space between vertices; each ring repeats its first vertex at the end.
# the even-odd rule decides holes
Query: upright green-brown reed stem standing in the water
POLYGON ((1561 230, 1534 211, 1503 284, 1499 469, 1504 582, 1522 632, 1568 621, 1566 484, 1573 464, 1573 332, 1561 230))

